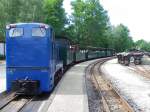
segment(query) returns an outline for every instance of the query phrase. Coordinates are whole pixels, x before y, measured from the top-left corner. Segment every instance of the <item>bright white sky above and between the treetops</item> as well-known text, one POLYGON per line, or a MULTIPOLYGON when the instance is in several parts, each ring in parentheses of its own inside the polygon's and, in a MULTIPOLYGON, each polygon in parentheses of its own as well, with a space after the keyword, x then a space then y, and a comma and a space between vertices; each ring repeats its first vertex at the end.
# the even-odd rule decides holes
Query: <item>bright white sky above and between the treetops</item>
MULTIPOLYGON (((100 0, 108 11, 112 25, 127 26, 133 40, 150 41, 150 0, 100 0)), ((66 12, 71 13, 70 0, 64 0, 66 12)))

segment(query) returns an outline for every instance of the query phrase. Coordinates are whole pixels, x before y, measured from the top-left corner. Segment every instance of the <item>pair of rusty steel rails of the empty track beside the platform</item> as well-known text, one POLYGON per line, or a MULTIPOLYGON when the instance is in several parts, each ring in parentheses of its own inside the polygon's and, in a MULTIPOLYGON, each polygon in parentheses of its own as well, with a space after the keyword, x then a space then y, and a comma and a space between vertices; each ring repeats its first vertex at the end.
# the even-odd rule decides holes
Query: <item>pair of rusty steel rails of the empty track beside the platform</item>
MULTIPOLYGON (((104 112, 111 112, 110 104, 109 104, 109 102, 107 101, 106 96, 103 94, 102 87, 101 87, 101 85, 99 84, 99 81, 98 81, 98 79, 97 79, 96 74, 94 73, 94 69, 95 69, 95 67, 96 67, 98 64, 99 64, 98 68, 100 68, 101 65, 102 65, 104 62, 106 62, 107 60, 109 60, 109 59, 111 59, 111 58, 102 59, 102 60, 100 60, 100 61, 95 62, 95 63, 92 65, 91 70, 90 70, 91 75, 92 75, 92 77, 93 77, 93 79, 94 79, 95 86, 96 86, 96 88, 99 90, 99 96, 101 96, 101 98, 102 98, 102 103, 103 103, 104 112)), ((99 76, 102 77, 102 79, 104 80, 104 82, 106 83, 106 85, 107 85, 111 90, 113 90, 113 92, 119 97, 119 101, 121 102, 121 103, 119 103, 119 104, 121 104, 122 107, 125 108, 126 112, 134 112, 133 108, 132 108, 132 107, 128 104, 128 102, 119 94, 119 92, 116 90, 116 88, 114 88, 114 87, 112 86, 112 84, 109 83, 109 82, 102 76, 102 72, 100 71, 100 69, 98 69, 98 71, 99 71, 99 76)))

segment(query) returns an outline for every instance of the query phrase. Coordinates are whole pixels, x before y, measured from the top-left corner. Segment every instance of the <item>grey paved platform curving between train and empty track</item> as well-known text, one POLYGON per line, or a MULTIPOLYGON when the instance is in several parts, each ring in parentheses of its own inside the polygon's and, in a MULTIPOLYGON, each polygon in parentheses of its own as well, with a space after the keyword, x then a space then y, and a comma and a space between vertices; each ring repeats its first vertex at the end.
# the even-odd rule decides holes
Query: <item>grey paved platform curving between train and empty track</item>
MULTIPOLYGON (((77 64, 64 74, 51 95, 54 98, 47 112, 89 112, 85 68, 94 61, 77 64)), ((45 104, 43 107, 46 108, 45 104)), ((43 107, 41 105, 40 108, 43 107)), ((39 109, 39 112, 42 111, 39 109)))

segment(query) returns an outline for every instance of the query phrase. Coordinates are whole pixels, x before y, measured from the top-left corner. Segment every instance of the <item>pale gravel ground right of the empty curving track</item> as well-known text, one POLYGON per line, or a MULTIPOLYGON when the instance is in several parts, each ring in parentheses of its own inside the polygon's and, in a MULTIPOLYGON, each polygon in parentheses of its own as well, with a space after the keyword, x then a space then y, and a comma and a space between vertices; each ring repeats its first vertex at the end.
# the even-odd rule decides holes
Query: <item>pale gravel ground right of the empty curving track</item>
MULTIPOLYGON (((143 64, 149 58, 143 59, 143 64)), ((149 64, 146 64, 150 67, 149 64)), ((135 111, 150 112, 150 79, 136 70, 120 65, 117 60, 106 62, 102 66, 105 77, 118 89, 119 93, 134 107, 135 111)))

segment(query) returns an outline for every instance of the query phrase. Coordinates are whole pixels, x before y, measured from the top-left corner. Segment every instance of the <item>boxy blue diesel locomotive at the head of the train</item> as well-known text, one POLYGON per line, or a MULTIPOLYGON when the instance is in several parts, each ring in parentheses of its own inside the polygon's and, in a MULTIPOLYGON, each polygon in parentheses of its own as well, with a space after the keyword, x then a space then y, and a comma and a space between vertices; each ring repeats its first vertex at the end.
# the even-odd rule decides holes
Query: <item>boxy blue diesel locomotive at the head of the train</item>
POLYGON ((63 67, 52 27, 17 23, 6 27, 7 91, 39 94, 54 87, 55 72, 63 67))

